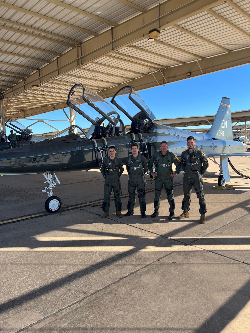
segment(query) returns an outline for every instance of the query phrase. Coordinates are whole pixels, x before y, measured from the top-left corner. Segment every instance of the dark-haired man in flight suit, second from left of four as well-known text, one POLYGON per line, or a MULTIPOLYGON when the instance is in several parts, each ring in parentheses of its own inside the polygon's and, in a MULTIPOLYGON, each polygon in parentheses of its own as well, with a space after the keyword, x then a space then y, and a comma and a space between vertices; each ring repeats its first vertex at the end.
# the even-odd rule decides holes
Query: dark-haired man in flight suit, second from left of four
POLYGON ((148 165, 145 157, 139 154, 138 144, 132 144, 131 147, 132 155, 126 160, 126 169, 128 171, 128 212, 124 216, 130 216, 134 214, 135 206, 135 190, 138 191, 138 198, 141 209, 142 218, 146 218, 146 192, 143 175, 148 170, 148 165))

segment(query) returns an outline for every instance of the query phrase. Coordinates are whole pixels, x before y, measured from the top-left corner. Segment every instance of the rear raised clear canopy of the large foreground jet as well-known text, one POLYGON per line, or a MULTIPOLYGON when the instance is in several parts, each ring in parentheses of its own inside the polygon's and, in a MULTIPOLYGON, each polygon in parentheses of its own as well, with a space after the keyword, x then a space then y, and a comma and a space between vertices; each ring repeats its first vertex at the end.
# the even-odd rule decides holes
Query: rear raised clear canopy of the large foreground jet
POLYGON ((156 119, 149 107, 130 86, 125 86, 118 90, 113 96, 111 103, 122 111, 131 122, 142 120, 152 122, 152 120, 156 119), (138 109, 140 110, 139 112, 138 109))

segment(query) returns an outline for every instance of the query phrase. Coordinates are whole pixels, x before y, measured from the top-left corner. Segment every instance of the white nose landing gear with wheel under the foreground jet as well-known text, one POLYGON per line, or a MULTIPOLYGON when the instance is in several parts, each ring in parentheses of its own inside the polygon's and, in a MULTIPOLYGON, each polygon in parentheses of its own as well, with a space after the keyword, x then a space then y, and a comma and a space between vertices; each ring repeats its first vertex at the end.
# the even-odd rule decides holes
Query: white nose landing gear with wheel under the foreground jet
POLYGON ((60 181, 53 171, 43 172, 43 175, 46 179, 44 183, 48 183, 48 186, 44 186, 42 192, 48 193, 49 196, 45 201, 44 206, 47 212, 55 213, 61 208, 62 201, 60 198, 58 198, 58 196, 53 196, 52 189, 56 186, 56 184, 60 184, 60 181), (49 192, 47 189, 49 189, 49 192))

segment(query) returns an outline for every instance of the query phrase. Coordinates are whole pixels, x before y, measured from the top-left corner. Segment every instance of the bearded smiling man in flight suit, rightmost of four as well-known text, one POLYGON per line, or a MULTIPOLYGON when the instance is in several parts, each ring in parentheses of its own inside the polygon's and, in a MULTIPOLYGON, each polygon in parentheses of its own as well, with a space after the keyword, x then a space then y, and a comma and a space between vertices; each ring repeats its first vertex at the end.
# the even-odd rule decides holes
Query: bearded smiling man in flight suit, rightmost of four
POLYGON ((183 192, 184 198, 182 200, 181 209, 183 213, 177 218, 179 220, 189 217, 189 209, 191 202, 191 191, 192 186, 194 186, 195 192, 199 199, 201 214, 200 223, 204 224, 206 222, 205 213, 207 212, 206 199, 203 190, 203 180, 202 175, 206 172, 209 164, 206 154, 201 150, 195 148, 194 137, 187 138, 188 149, 181 153, 181 166, 185 171, 183 177, 183 192))

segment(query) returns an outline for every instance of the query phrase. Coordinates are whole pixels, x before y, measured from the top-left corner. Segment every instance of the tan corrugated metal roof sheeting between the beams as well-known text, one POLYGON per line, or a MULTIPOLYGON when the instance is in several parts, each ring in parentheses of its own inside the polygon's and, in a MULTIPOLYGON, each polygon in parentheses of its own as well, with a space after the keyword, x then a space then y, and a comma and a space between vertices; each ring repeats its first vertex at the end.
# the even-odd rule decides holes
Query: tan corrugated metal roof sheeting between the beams
MULTIPOLYGON (((141 14, 135 8, 117 0, 60 1, 62 6, 53 4, 49 0, 3 1, 19 7, 20 10, 0 6, 0 26, 2 26, 2 28, 0 27, 0 91, 12 89, 9 87, 23 80, 24 76, 17 77, 18 74, 27 77, 38 68, 47 66, 45 61, 50 62, 71 48, 75 48, 74 40, 83 42, 93 37, 90 33, 77 30, 78 28, 97 34, 110 29, 111 26, 107 23, 77 13, 77 8, 114 22, 114 24, 120 24, 141 14), (63 4, 71 5, 75 7, 75 10, 64 8, 63 4), (21 12, 21 8, 31 12, 21 12), (47 19, 37 17, 32 12, 47 16, 47 19), (50 18, 60 21, 61 24, 58 21, 52 22, 50 18), (65 26, 63 22, 71 26, 65 26), (15 30, 11 31, 8 28, 15 30), (24 34, 24 32, 32 35, 24 34), (41 39, 41 36, 49 40, 41 39), (67 45, 61 45, 58 42, 64 42, 67 45), (8 54, 1 53, 1 51, 8 52, 8 54)), ((159 1, 132 0, 131 2, 148 10, 154 5, 158 5, 159 1)), ((234 3, 250 14, 249 0, 234 0, 234 3)), ((250 35, 249 19, 229 4, 222 3, 213 7, 212 10, 250 35)), ((106 89, 117 87, 118 90, 119 85, 124 82, 129 84, 131 80, 146 77, 151 74, 151 71, 182 66, 182 64, 196 61, 196 59, 220 55, 227 50, 235 51, 250 47, 250 38, 206 11, 191 15, 188 19, 178 22, 177 25, 185 31, 180 31, 174 26, 167 27, 161 31, 160 37, 157 39, 168 45, 159 44, 157 40, 150 43, 145 36, 106 56, 94 59, 93 62, 79 65, 81 69, 75 68, 64 75, 51 77, 47 82, 39 85, 39 90, 25 90, 9 98, 7 115, 46 105, 51 106, 59 102, 64 103, 69 88, 75 82, 89 86, 97 92, 102 91, 105 95, 106 89), (199 38, 203 38, 203 40, 199 38), (217 45, 211 45, 211 42, 217 45), (221 49, 221 47, 227 50, 221 49), (188 52, 191 54, 187 54, 188 52)))

